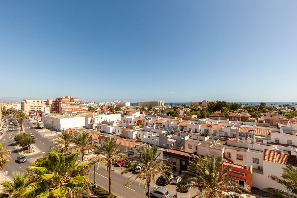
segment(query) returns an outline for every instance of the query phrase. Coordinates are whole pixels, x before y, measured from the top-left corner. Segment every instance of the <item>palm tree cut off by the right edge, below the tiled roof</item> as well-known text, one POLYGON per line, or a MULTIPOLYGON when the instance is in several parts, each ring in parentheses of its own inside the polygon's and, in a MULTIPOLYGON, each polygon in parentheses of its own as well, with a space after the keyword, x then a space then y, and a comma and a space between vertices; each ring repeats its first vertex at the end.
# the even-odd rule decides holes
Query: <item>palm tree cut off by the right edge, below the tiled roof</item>
POLYGON ((266 192, 273 193, 279 198, 297 198, 297 168, 288 164, 285 167, 282 167, 283 173, 281 175, 282 179, 275 176, 269 175, 271 179, 275 180, 277 183, 285 186, 285 191, 279 188, 266 188, 263 189, 266 192))

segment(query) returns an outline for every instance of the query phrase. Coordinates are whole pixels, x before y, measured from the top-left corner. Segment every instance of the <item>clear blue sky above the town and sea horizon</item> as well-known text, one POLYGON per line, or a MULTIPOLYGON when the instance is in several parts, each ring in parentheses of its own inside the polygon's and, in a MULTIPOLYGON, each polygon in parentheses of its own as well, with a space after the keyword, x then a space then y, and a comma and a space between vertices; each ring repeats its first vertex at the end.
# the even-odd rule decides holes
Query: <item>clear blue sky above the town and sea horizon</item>
POLYGON ((296 10, 297 1, 0 1, 0 96, 296 101, 296 10))

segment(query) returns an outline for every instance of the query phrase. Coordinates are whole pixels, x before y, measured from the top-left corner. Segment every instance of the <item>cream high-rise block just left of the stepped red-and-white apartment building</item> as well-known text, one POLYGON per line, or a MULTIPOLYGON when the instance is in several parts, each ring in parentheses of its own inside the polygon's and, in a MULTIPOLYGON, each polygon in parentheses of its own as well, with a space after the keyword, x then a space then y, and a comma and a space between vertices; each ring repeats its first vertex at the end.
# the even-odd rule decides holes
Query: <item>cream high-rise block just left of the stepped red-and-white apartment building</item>
POLYGON ((44 113, 46 100, 23 99, 20 103, 20 110, 28 114, 44 113))

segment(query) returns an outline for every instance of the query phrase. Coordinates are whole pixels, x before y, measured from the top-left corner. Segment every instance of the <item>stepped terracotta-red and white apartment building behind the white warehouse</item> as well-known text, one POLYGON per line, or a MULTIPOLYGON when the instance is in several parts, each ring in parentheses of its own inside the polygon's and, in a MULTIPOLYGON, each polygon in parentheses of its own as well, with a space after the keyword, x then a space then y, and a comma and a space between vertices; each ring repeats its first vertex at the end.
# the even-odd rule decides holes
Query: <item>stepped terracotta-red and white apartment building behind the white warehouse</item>
POLYGON ((72 96, 63 96, 56 98, 50 108, 51 111, 57 113, 78 113, 88 111, 87 105, 78 98, 72 96))

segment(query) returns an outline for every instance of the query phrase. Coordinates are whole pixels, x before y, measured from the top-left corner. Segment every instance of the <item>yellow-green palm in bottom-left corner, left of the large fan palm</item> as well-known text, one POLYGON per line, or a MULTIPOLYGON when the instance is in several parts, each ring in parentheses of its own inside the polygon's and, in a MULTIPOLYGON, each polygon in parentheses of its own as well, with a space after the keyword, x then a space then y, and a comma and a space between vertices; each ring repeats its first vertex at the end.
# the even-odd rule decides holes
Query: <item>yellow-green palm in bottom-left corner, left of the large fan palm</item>
POLYGON ((24 194, 24 188, 29 183, 29 174, 25 172, 13 172, 12 173, 13 182, 7 180, 0 183, 2 187, 0 192, 1 198, 12 198, 22 197, 24 194))

